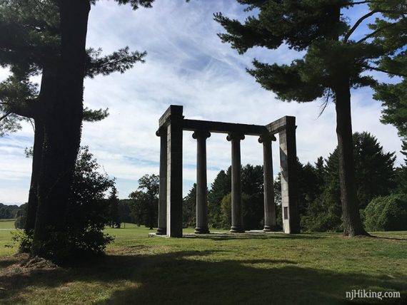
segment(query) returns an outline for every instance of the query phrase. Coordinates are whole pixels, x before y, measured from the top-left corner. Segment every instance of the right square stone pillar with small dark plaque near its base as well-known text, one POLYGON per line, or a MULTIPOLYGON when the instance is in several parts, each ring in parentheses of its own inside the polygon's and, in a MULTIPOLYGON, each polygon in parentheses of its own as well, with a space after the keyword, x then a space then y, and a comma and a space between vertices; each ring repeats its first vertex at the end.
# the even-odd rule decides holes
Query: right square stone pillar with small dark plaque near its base
POLYGON ((286 117, 286 128, 279 132, 281 165, 281 207, 284 233, 299 233, 296 118, 286 117))

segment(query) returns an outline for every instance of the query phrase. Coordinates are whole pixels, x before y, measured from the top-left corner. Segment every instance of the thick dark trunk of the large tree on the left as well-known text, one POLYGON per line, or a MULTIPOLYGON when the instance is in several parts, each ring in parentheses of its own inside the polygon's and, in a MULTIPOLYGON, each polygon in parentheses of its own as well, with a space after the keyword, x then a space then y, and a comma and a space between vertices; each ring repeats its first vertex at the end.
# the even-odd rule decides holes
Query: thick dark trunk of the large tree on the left
POLYGON ((61 58, 56 70, 56 97, 46 100, 44 145, 39 171, 38 208, 32 254, 53 232, 66 230, 71 180, 81 141, 88 0, 60 0, 61 58))

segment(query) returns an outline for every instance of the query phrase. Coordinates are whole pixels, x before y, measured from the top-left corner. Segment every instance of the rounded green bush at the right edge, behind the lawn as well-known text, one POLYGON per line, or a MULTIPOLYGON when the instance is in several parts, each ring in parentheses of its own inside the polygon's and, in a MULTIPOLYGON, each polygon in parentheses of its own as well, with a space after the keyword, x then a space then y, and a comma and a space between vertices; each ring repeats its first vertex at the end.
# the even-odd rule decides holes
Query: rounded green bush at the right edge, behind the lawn
POLYGON ((407 195, 393 194, 373 199, 365 209, 368 231, 407 229, 407 195))

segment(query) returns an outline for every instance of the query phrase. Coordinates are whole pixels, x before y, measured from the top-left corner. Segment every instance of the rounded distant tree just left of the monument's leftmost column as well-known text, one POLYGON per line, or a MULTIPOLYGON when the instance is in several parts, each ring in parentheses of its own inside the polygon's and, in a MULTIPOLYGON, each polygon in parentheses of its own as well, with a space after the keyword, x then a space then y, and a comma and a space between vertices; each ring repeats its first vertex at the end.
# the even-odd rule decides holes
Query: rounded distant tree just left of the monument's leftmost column
POLYGON ((129 198, 133 200, 130 206, 131 217, 136 224, 144 224, 153 229, 157 224, 159 210, 159 176, 144 175, 139 179, 138 190, 131 192, 129 198))

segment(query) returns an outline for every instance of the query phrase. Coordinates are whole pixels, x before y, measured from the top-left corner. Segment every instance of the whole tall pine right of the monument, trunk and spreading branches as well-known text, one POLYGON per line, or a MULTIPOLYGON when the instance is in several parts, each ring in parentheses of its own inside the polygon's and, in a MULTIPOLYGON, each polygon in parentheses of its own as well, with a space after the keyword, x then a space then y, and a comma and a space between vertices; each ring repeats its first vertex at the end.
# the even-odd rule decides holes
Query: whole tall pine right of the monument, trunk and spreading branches
MULTIPOLYGON (((261 46, 276 49, 283 44, 303 52, 303 58, 290 65, 253 61, 248 72, 256 81, 276 93, 281 100, 309 102, 332 99, 336 106, 338 138, 338 175, 341 185, 343 233, 349 236, 366 234, 358 212, 351 127, 351 88, 375 86, 366 71, 402 75, 393 61, 405 53, 406 4, 404 1, 351 0, 237 0, 255 12, 243 23, 221 13, 215 20, 227 33, 219 34, 239 53, 261 46), (355 24, 343 17, 343 11, 367 6, 367 14, 355 24), (371 32, 356 40, 354 33, 369 17, 371 32), (383 33, 391 32, 383 40, 383 33)), ((403 55, 404 56, 404 55, 403 55)), ((405 59, 405 56, 404 56, 405 59)))

